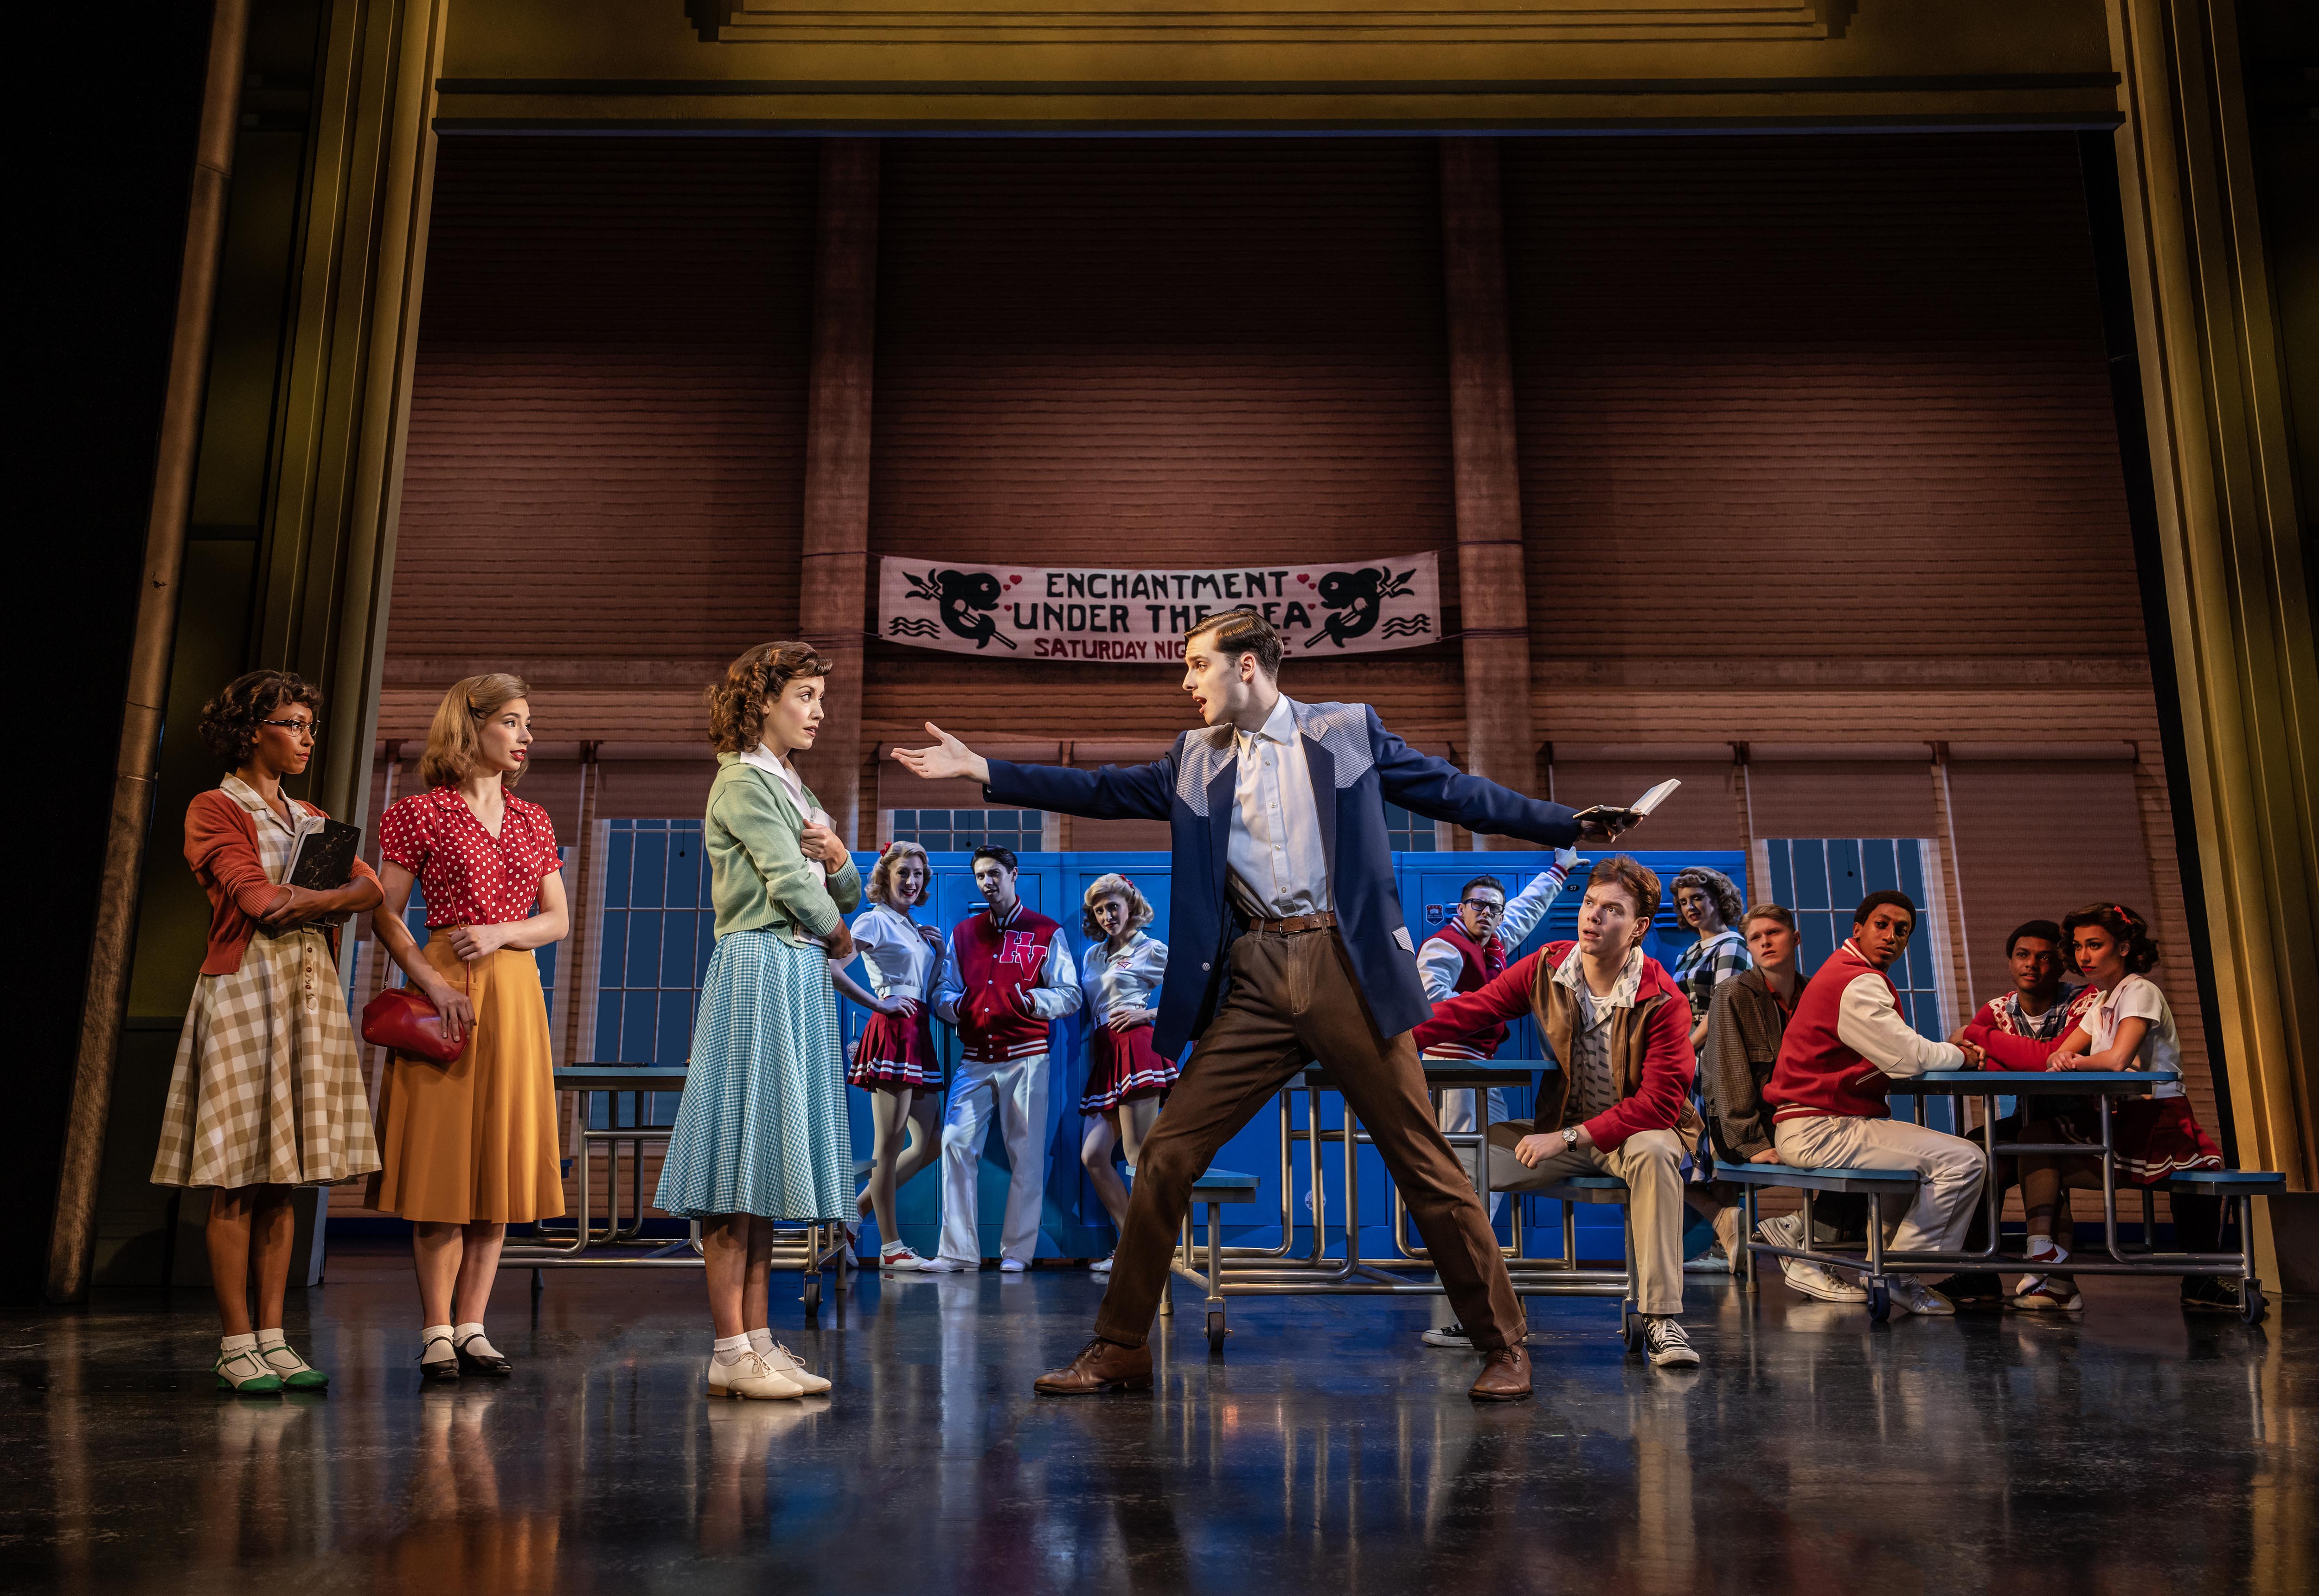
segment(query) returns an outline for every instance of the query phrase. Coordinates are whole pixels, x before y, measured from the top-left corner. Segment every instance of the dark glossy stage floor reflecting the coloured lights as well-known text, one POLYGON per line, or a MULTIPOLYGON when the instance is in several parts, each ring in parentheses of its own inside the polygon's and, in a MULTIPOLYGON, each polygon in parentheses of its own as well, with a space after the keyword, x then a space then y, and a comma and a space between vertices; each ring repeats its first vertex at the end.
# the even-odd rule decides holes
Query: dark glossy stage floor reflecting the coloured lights
MULTIPOLYGON (((292 1297, 325 1399, 213 1390, 204 1297, 0 1320, 0 1584, 58 1591, 2319 1589, 2319 1308, 2173 1283, 1871 1332, 1693 1278, 1698 1373, 1531 1299, 1537 1396, 1466 1399, 1433 1301, 1197 1311, 1153 1396, 1037 1399, 1099 1283, 856 1276, 833 1399, 710 1403, 700 1278, 503 1276, 512 1380, 420 1392, 404 1257, 292 1297)), ((786 1285, 786 1290, 784 1290, 786 1285)), ((775 1320, 795 1327, 795 1276, 775 1320)), ((1197 1308, 1197 1299, 1187 1304, 1197 1308)))

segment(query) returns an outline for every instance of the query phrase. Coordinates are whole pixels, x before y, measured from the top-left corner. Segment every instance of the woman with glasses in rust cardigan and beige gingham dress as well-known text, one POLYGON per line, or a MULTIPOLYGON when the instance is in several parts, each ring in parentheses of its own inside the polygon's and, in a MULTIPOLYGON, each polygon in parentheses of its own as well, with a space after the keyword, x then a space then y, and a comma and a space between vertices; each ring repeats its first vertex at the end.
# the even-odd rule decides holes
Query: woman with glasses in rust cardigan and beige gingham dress
POLYGON ((299 842, 325 821, 283 793, 313 759, 320 712, 322 694, 285 670, 227 684, 202 705, 202 742, 227 775, 186 807, 209 946, 169 1072, 153 1183, 209 1188, 209 1283, 225 1320, 218 1385, 243 1396, 329 1385, 283 1339, 290 1192, 378 1169, 336 958, 336 923, 378 905, 378 877, 357 858, 346 886, 288 884, 299 842))

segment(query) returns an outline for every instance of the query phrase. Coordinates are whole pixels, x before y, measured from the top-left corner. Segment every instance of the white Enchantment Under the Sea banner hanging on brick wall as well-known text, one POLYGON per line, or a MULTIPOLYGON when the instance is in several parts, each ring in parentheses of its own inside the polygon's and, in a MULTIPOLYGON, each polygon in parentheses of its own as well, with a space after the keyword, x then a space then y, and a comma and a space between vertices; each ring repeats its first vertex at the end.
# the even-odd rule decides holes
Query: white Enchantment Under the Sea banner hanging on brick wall
POLYGON ((1419 647, 1442 633, 1440 557, 1220 571, 886 557, 877 582, 881 638, 986 659, 1180 663, 1192 622, 1236 608, 1278 626, 1289 659, 1419 647))

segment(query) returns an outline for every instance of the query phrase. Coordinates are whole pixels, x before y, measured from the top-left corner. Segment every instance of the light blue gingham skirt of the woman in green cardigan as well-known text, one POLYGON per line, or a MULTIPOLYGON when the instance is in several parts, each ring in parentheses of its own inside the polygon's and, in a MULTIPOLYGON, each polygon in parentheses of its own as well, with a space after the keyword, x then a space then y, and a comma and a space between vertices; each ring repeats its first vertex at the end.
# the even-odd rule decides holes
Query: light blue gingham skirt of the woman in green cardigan
POLYGON ((853 1218, 844 1046, 819 946, 772 930, 717 940, 654 1202, 691 1218, 853 1218))

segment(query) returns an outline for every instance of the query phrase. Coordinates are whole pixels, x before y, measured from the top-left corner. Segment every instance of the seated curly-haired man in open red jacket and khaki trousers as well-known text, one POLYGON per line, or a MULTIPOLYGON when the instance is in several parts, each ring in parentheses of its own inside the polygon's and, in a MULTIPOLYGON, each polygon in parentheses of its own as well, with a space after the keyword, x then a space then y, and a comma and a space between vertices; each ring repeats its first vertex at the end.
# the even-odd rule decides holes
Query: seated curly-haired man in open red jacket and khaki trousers
POLYGON ((1549 942, 1486 986, 1433 1004, 1417 1046, 1489 1032, 1528 1011, 1561 1060, 1535 1120, 1489 1127, 1489 1183, 1521 1192, 1575 1174, 1628 1183, 1635 1294, 1658 1369, 1695 1369, 1684 1311, 1684 1151, 1698 1146, 1691 1109, 1691 1004, 1646 958, 1658 877, 1633 858, 1600 861, 1579 902, 1579 940, 1549 942))

